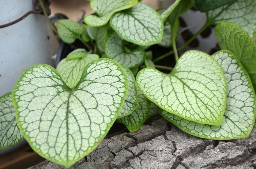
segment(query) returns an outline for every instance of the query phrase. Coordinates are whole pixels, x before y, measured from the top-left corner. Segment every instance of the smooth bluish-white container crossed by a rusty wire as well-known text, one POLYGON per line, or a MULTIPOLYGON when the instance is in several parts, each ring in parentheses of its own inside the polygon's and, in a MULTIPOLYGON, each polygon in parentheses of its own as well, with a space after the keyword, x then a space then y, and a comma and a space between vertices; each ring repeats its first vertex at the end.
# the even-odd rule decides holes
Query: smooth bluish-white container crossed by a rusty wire
MULTIPOLYGON (((33 9, 32 0, 0 0, 0 25, 33 9)), ((0 29, 0 96, 11 92, 20 74, 33 64, 53 64, 58 42, 43 15, 30 14, 0 29), (49 38, 49 39, 48 39, 49 38)))

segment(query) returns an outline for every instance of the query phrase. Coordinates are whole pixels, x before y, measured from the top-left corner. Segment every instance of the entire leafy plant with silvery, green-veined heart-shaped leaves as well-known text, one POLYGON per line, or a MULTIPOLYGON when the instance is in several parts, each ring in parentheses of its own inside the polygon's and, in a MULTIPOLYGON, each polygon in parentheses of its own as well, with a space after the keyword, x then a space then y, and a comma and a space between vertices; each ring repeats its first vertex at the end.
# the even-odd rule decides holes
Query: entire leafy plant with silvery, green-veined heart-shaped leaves
POLYGON ((84 48, 56 69, 27 68, 12 93, 0 97, 0 150, 25 138, 39 155, 68 168, 115 121, 133 132, 159 114, 201 138, 249 135, 256 115, 255 0, 176 0, 158 11, 137 0, 91 0, 90 6, 95 14, 84 23, 57 21, 63 42, 78 40, 84 48), (191 7, 206 13, 206 23, 177 48, 178 17, 191 7), (178 55, 212 24, 221 51, 178 55), (155 58, 153 44, 169 52, 155 58), (157 64, 167 56, 175 67, 157 64))

